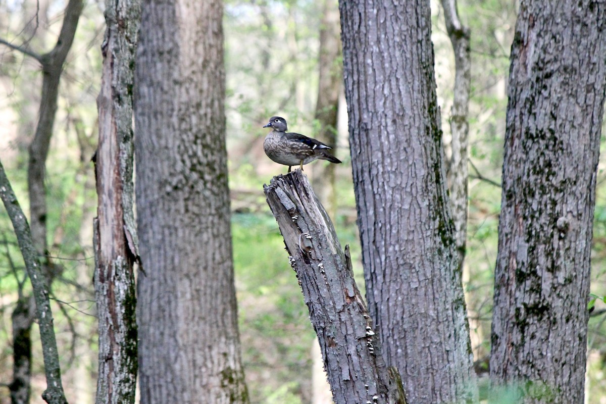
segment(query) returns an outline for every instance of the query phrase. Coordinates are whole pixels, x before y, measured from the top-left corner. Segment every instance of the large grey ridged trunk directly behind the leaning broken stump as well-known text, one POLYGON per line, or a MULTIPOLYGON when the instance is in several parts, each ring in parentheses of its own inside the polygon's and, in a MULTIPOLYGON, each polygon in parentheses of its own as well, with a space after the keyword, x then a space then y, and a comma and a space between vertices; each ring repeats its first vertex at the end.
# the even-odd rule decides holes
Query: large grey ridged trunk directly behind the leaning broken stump
POLYGON ((412 403, 476 397, 443 167, 429 3, 341 1, 368 308, 412 403))

